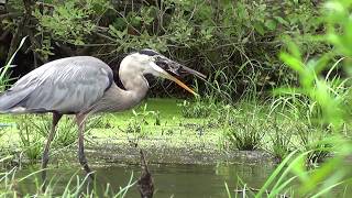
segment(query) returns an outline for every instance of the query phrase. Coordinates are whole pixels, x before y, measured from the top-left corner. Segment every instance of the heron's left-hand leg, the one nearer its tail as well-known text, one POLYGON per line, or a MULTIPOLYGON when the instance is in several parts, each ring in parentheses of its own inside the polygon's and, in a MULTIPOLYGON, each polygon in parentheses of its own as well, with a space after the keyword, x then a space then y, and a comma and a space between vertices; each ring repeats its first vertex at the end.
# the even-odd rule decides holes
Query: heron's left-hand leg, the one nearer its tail
POLYGON ((47 136, 47 140, 46 140, 46 144, 45 144, 45 147, 44 147, 44 152, 43 152, 43 156, 42 156, 42 169, 44 169, 42 172, 42 179, 43 182, 45 180, 46 178, 46 166, 47 166, 47 162, 48 162, 48 150, 51 147, 51 143, 55 136, 55 130, 56 130, 56 125, 59 121, 59 119, 63 117, 63 114, 61 113, 57 113, 57 112, 54 112, 53 113, 53 124, 52 124, 52 129, 51 129, 51 132, 47 136))

